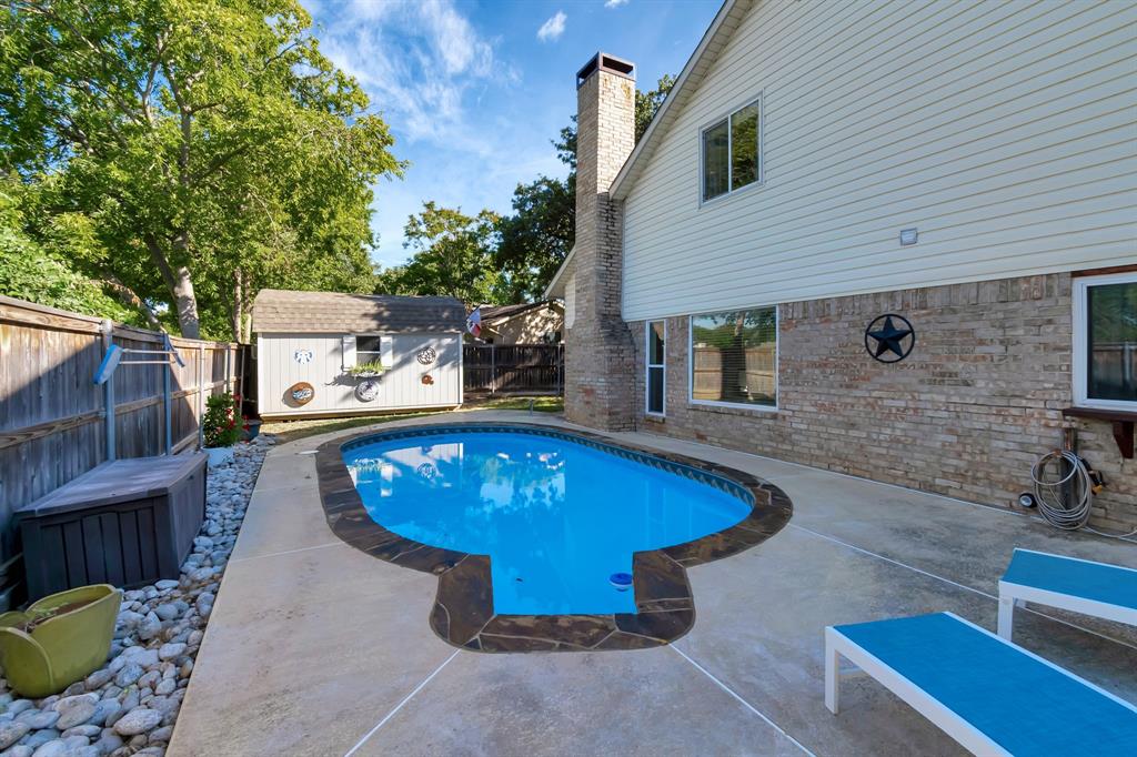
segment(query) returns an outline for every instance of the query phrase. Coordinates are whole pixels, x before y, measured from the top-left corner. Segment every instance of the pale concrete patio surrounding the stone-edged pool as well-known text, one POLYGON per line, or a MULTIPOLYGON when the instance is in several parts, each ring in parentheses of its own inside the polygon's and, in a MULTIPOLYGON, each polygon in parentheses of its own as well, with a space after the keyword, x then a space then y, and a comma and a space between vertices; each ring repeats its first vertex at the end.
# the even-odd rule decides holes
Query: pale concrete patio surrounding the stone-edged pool
MULTIPOLYGON (((565 425, 512 411, 453 417, 565 425)), ((428 625, 433 576, 368 557, 325 525, 310 452, 337 435, 282 444, 266 460, 169 755, 954 755, 954 741, 870 679, 846 682, 841 715, 830 715, 822 629, 932 610, 994 629, 1013 547, 1137 567, 1132 542, 615 434, 763 476, 790 496, 794 518, 767 542, 689 571, 697 621, 670 647, 458 651, 428 625)), ((1137 701, 1127 629, 1027 612, 1015 641, 1137 701)))

